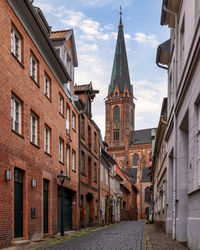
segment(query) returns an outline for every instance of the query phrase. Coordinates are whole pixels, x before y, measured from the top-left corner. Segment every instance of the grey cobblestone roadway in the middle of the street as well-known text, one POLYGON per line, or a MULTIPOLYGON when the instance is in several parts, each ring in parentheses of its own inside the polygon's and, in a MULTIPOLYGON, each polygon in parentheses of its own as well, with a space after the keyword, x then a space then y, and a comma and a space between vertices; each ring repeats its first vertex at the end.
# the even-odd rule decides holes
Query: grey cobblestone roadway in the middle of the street
POLYGON ((144 222, 122 222, 43 249, 144 250, 144 222))

